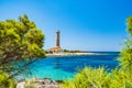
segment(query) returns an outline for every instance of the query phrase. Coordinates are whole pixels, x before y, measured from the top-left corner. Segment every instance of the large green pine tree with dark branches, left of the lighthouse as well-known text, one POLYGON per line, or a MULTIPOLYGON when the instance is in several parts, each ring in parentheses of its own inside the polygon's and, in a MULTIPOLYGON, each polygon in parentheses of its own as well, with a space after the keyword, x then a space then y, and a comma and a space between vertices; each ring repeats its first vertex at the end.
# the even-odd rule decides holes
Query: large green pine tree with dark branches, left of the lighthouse
POLYGON ((15 76, 33 61, 45 57, 43 43, 44 34, 28 15, 0 21, 0 70, 15 76), (29 61, 25 65, 12 66, 12 63, 25 59, 29 61))

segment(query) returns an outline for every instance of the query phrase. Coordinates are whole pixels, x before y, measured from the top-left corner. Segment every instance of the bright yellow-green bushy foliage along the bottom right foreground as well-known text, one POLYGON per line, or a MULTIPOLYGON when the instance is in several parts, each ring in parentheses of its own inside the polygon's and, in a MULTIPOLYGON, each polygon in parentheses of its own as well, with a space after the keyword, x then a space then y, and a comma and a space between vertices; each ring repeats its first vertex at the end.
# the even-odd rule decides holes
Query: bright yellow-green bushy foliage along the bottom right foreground
POLYGON ((62 88, 132 88, 130 76, 120 69, 107 73, 103 67, 86 67, 73 80, 66 80, 62 88))

